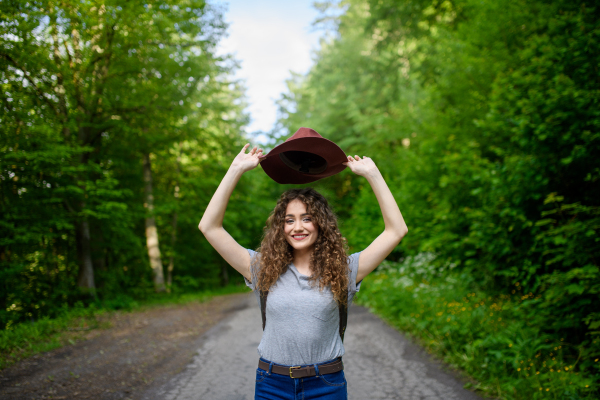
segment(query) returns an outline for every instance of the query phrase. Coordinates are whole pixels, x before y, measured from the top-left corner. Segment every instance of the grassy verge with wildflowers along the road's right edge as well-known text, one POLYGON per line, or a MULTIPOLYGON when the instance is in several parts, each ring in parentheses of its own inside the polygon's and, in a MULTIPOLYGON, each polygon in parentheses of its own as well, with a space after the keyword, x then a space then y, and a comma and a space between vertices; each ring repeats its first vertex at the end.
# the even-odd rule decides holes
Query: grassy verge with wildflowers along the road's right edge
POLYGON ((421 255, 383 265, 365 279, 357 301, 473 377, 478 383, 467 387, 485 395, 600 398, 599 356, 569 338, 543 333, 543 321, 524 318, 532 294, 517 284, 511 293, 492 297, 473 290, 468 276, 441 275, 429 261, 421 255), (583 367, 584 359, 592 368, 583 367))

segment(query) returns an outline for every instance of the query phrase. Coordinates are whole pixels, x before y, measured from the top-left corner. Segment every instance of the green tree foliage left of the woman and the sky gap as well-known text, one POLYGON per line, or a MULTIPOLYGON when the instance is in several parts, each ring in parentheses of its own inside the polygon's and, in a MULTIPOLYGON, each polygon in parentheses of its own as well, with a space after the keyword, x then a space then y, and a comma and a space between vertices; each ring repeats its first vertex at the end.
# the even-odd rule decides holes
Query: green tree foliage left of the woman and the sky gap
MULTIPOLYGON (((0 327, 96 301, 78 288, 86 260, 100 300, 152 293, 145 153, 173 290, 186 279, 203 282, 189 290, 226 283, 197 230, 247 121, 235 63, 215 55, 221 10, 202 0, 8 1, 0 13, 0 327)), ((259 220, 244 221, 259 232, 259 220)))

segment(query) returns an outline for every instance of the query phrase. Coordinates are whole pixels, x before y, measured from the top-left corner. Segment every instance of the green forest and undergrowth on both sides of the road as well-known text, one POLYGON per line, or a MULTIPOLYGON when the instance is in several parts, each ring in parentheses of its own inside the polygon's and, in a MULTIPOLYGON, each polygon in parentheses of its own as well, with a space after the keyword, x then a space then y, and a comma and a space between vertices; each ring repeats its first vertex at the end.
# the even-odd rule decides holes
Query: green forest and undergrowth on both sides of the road
MULTIPOLYGON (((409 234, 358 301, 486 395, 598 398, 600 6, 315 7, 320 48, 270 146, 311 127, 385 176, 409 234)), ((0 30, 0 329, 241 283, 197 228, 253 140, 223 10, 5 1, 0 30)), ((225 228, 256 248, 288 186, 246 175, 225 228)), ((360 177, 312 186, 351 250, 381 231, 360 177)))

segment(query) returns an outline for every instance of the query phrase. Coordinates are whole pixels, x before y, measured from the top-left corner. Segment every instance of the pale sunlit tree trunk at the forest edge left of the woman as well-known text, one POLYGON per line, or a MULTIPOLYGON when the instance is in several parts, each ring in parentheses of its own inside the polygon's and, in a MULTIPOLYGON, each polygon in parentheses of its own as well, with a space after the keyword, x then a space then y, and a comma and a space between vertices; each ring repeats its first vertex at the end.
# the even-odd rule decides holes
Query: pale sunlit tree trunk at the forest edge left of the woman
POLYGON ((150 167, 150 154, 144 154, 144 192, 146 196, 145 207, 148 209, 146 217, 146 245, 148 247, 148 258, 154 275, 154 289, 157 292, 165 291, 165 278, 163 275, 162 261, 160 259, 160 248, 158 244, 158 231, 154 220, 154 196, 152 194, 152 169, 150 167))

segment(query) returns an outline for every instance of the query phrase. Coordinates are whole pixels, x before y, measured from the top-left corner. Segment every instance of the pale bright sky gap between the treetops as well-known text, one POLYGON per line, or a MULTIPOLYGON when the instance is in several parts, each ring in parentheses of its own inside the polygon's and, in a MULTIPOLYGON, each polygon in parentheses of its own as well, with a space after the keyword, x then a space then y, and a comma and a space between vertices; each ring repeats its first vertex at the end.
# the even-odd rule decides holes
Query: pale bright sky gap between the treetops
POLYGON ((246 132, 266 143, 260 132, 271 130, 277 119, 275 101, 286 91, 290 71, 306 73, 312 65, 321 33, 312 28, 318 11, 314 0, 219 0, 225 4, 229 36, 220 53, 240 61, 236 78, 245 81, 251 121, 246 132))

